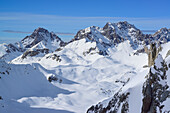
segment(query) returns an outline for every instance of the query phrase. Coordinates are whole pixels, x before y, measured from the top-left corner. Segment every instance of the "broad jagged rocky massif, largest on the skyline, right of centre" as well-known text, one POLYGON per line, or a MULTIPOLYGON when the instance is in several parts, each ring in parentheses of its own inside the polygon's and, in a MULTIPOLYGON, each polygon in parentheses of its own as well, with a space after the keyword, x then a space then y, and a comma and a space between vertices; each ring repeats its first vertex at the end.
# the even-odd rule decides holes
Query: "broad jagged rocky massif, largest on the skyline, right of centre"
POLYGON ((87 42, 96 43, 95 48, 100 55, 107 55, 109 47, 118 45, 125 40, 129 40, 131 46, 136 49, 138 44, 142 44, 144 38, 145 35, 139 29, 126 21, 118 23, 108 22, 103 28, 91 26, 78 31, 74 39, 69 43, 86 39, 87 42))

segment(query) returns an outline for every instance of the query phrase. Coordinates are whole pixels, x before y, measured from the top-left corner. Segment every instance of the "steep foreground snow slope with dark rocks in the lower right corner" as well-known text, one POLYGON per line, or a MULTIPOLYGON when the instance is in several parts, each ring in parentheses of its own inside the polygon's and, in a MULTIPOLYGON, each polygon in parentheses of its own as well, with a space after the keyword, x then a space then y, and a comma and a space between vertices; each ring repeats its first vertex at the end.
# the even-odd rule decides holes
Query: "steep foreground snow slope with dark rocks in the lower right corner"
POLYGON ((160 112, 160 108, 161 108, 160 106, 162 105, 163 105, 163 108, 161 108, 162 112, 170 111, 169 108, 170 98, 168 97, 168 95, 170 94, 170 90, 169 90, 170 56, 165 57, 164 55, 165 52, 167 53, 167 48, 169 47, 170 47, 170 43, 163 45, 163 50, 160 52, 160 55, 158 55, 157 59, 155 60, 154 66, 150 68, 150 72, 149 72, 149 68, 146 69, 141 68, 140 71, 135 73, 135 76, 130 77, 130 80, 128 80, 128 82, 123 87, 115 91, 113 97, 106 99, 102 102, 99 102, 95 106, 91 106, 87 112, 88 113, 98 113, 98 112, 121 113, 122 111, 124 112, 127 111, 129 113, 140 113, 140 112, 145 113, 146 112, 145 110, 147 108, 144 108, 144 106, 149 107, 149 104, 146 102, 149 100, 149 97, 147 97, 148 90, 144 88, 148 87, 147 83, 151 83, 151 82, 147 82, 147 81, 151 80, 152 77, 154 76, 155 76, 154 78, 158 77, 158 79, 156 79, 156 81, 151 85, 152 87, 151 91, 153 91, 151 94, 155 94, 155 95, 153 97, 149 95, 152 98, 151 99, 152 105, 150 106, 150 110, 147 112, 154 112, 154 109, 156 109, 156 112, 160 112), (162 56, 164 57, 162 58, 162 56), (165 64, 167 65, 167 67, 165 67, 165 70, 162 69, 164 66, 164 64, 162 64, 164 62, 163 59, 165 61, 165 64), (157 85, 160 86, 158 87, 157 85), (164 88, 161 89, 160 87, 164 87, 164 88), (162 98, 166 98, 166 99, 161 100, 159 96, 161 96, 161 99, 162 98), (146 100, 144 100, 145 97, 146 100), (160 105, 158 106, 157 104, 153 104, 155 101, 158 102, 160 105))

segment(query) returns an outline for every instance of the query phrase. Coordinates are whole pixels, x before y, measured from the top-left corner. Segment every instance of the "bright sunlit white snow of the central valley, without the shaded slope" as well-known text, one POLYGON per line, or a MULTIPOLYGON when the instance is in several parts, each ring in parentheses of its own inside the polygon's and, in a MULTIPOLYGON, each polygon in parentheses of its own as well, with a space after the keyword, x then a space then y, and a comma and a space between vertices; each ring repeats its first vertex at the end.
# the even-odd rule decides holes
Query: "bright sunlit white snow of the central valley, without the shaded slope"
MULTIPOLYGON (((96 42, 86 42, 85 39, 74 41, 61 51, 47 54, 38 62, 47 70, 55 70, 57 75, 76 82, 77 84, 72 85, 52 82, 57 87, 75 93, 60 94, 52 99, 45 98, 45 103, 48 104, 37 103, 42 100, 41 97, 24 98, 20 102, 33 101, 35 104, 29 103, 32 107, 60 108, 83 113, 92 104, 111 97, 129 78, 135 77, 136 73, 148 72, 148 69, 141 70, 147 64, 147 55, 134 56, 132 54, 134 50, 129 41, 109 48, 108 56, 99 55, 96 50, 92 51, 93 54, 83 54, 93 46, 96 46, 96 42), (53 58, 55 54, 60 56, 60 62, 53 58)), ((13 61, 13 63, 30 62, 24 60, 24 62, 13 61)))

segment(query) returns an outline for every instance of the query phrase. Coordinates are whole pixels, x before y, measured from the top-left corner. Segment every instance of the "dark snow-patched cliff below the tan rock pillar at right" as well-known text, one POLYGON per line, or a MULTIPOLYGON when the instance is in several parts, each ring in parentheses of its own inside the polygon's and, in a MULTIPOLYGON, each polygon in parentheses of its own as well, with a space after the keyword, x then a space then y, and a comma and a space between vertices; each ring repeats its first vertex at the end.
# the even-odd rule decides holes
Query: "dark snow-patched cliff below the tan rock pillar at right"
POLYGON ((167 85, 167 64, 161 55, 158 55, 154 66, 150 68, 148 78, 143 85, 142 113, 162 113, 164 105, 161 103, 170 97, 167 85), (158 111, 159 110, 159 111, 158 111))

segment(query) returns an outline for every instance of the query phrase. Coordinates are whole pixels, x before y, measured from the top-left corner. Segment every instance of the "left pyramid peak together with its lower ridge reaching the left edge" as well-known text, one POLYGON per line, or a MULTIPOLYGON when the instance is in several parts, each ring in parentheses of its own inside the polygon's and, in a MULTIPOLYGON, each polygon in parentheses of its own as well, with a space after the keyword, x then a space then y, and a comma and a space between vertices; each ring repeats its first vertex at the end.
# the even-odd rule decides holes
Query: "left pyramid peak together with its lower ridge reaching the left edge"
POLYGON ((64 45, 65 43, 53 32, 49 32, 44 28, 37 28, 30 36, 26 36, 19 42, 0 45, 3 51, 0 56, 6 61, 10 61, 24 52, 25 56, 23 58, 27 55, 46 54, 64 45))

